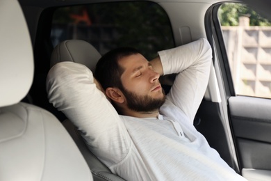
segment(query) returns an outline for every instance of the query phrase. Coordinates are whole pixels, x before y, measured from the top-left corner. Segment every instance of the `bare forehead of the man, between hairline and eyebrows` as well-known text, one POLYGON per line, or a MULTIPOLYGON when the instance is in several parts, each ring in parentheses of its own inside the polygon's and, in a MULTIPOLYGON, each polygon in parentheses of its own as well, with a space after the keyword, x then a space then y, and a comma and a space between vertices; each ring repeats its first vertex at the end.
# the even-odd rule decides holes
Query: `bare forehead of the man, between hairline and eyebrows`
POLYGON ((124 69, 124 72, 132 72, 134 68, 148 64, 149 61, 142 56, 142 54, 133 54, 125 56, 119 60, 120 66, 124 69))

